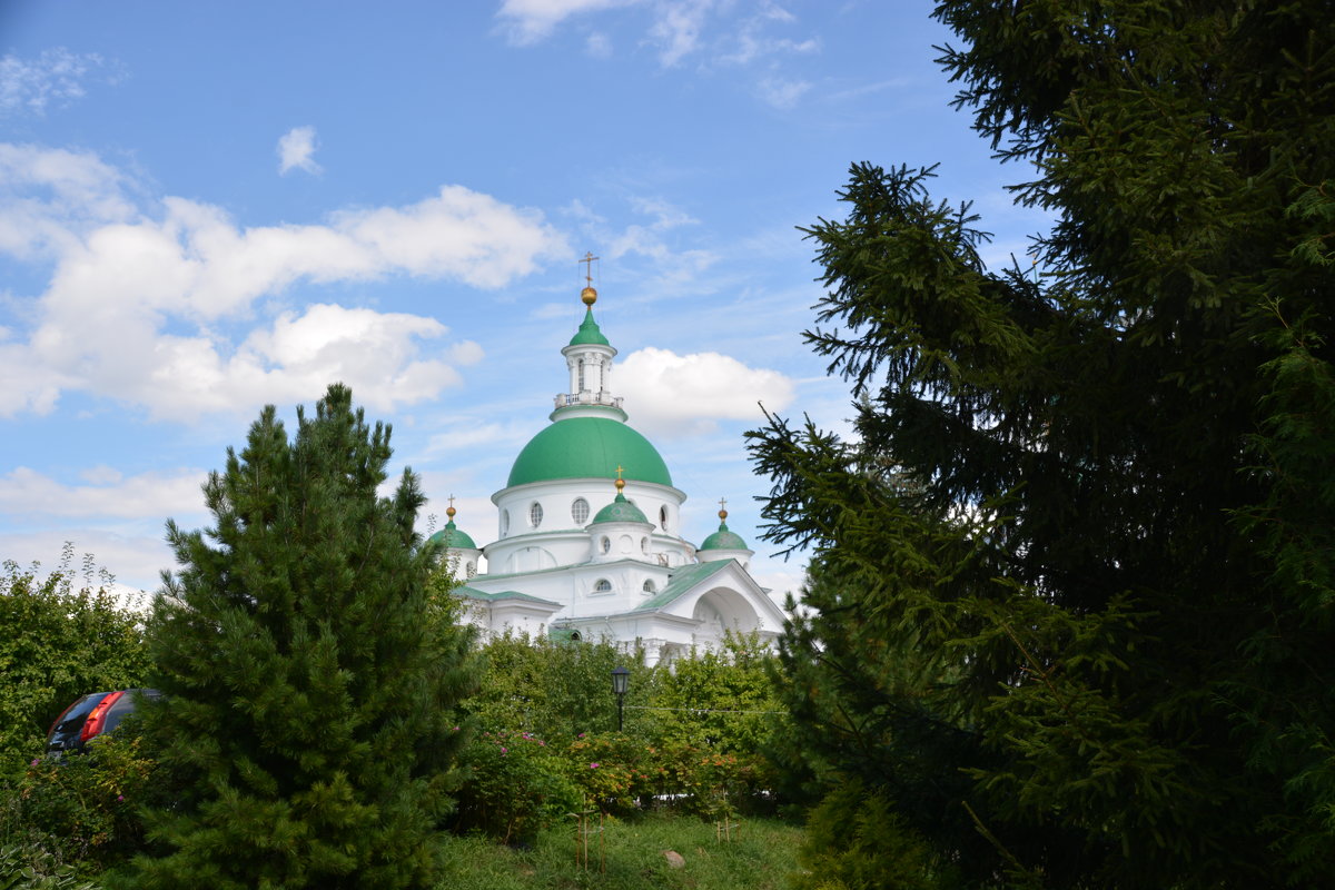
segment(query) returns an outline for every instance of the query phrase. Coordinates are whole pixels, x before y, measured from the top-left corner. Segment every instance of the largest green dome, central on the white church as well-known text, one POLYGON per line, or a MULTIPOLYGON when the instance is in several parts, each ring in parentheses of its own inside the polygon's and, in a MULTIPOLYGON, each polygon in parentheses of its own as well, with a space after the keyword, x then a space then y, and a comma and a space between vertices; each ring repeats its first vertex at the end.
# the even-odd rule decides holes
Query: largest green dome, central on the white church
POLYGON ((625 423, 610 418, 557 420, 529 440, 510 468, 507 487, 553 479, 626 479, 672 486, 658 451, 625 423))

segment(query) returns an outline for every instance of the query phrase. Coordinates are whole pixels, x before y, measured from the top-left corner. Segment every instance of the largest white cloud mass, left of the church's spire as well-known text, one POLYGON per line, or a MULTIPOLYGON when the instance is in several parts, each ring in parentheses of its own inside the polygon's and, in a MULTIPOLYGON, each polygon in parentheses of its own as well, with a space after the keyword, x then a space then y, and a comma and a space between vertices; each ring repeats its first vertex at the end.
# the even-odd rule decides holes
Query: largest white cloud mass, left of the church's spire
MULTIPOLYGON (((87 155, 0 145, 5 169, 19 176, 0 185, 0 220, 15 209, 43 234, 5 236, 0 223, 0 252, 49 255, 55 271, 21 306, 31 331, 0 343, 0 416, 49 411, 65 390, 183 418, 318 398, 331 379, 378 410, 429 399, 459 380, 419 356, 419 340, 446 332, 435 320, 324 304, 298 315, 262 298, 394 274, 499 288, 566 251, 539 212, 462 185, 320 224, 238 228, 183 197, 135 208, 120 173, 87 155), (267 318, 252 332, 224 334, 256 312, 267 318)), ((481 350, 449 358, 469 364, 481 350)))

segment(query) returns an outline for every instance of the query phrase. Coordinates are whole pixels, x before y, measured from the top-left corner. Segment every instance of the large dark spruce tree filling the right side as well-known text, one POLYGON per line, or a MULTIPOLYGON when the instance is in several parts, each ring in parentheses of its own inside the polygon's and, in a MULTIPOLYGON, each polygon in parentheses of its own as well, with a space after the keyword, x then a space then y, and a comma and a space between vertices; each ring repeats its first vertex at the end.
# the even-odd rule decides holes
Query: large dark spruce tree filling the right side
POLYGON ((930 168, 854 165, 809 230, 860 399, 853 443, 753 439, 814 552, 798 746, 973 886, 1328 879, 1331 12, 947 0, 960 104, 1056 220, 1033 267, 985 268, 930 168))

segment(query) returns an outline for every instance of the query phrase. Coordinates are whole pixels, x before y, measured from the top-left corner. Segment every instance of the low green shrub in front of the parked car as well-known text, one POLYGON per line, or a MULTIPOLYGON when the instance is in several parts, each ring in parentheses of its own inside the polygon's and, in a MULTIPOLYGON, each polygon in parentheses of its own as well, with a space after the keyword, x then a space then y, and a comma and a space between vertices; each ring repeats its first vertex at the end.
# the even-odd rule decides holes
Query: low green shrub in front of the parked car
POLYGON ((95 875, 143 843, 139 807, 162 790, 127 721, 87 754, 33 759, 7 791, 4 838, 95 875))

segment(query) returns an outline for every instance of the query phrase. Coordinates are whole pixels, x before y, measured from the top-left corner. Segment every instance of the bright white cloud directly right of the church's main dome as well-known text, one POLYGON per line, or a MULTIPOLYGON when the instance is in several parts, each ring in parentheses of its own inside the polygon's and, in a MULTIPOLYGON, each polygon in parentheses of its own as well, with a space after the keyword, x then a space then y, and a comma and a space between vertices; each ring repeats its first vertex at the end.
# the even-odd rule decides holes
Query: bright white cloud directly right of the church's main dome
POLYGON ((613 388, 646 434, 696 435, 717 420, 760 420, 758 403, 782 411, 794 383, 778 371, 752 368, 718 352, 677 355, 647 347, 626 356, 613 371, 613 388))

